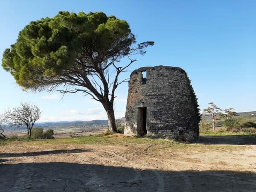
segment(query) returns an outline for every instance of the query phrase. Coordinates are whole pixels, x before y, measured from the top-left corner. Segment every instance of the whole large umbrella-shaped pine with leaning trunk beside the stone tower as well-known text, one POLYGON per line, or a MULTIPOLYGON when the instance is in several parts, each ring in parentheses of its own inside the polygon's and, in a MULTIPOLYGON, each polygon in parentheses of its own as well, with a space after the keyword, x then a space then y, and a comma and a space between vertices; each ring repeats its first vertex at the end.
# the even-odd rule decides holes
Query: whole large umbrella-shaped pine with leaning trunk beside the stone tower
POLYGON ((152 45, 153 41, 137 44, 129 24, 115 16, 59 12, 25 26, 4 51, 2 67, 24 90, 82 92, 112 113, 115 90, 123 82, 118 76, 136 61, 129 55, 143 55, 152 45), (122 58, 128 58, 126 66, 120 64, 122 58), (113 81, 110 71, 116 72, 113 81))

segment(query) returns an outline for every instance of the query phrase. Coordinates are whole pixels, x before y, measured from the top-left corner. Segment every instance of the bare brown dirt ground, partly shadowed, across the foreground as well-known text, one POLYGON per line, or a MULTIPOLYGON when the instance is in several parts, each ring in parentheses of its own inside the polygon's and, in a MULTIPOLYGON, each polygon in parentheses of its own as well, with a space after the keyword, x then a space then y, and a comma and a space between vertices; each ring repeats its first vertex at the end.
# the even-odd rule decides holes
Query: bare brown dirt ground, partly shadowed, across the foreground
POLYGON ((0 191, 256 191, 256 138, 247 140, 204 136, 173 148, 13 142, 0 146, 0 191))

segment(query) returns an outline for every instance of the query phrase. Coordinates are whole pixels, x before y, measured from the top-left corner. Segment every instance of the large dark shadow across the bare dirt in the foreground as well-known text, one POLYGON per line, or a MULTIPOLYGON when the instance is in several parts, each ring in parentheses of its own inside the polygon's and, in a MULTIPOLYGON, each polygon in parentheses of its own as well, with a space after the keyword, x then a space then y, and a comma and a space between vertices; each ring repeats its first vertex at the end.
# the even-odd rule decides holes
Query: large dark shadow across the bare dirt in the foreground
POLYGON ((78 163, 0 164, 3 191, 256 191, 256 174, 160 171, 78 163))

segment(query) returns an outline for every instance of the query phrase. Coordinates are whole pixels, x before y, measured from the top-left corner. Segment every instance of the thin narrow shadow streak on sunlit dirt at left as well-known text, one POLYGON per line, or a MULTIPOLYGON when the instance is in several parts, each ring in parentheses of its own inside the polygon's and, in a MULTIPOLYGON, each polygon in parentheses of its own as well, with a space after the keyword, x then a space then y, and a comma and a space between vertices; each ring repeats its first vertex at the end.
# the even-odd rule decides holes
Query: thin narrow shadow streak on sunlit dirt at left
POLYGON ((90 149, 65 149, 65 150, 52 150, 52 151, 37 151, 37 152, 24 152, 24 153, 0 153, 0 157, 28 157, 46 154, 64 154, 64 153, 83 153, 89 152, 90 149))

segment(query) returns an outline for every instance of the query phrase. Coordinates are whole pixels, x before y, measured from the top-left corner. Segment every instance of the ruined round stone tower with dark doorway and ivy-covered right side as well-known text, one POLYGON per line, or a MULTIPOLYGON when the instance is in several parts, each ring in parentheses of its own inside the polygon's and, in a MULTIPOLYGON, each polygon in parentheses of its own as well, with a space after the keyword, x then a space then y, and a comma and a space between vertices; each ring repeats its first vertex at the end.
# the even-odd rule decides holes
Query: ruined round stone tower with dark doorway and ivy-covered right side
POLYGON ((198 139, 199 121, 197 99, 183 69, 142 67, 131 73, 124 134, 192 141, 198 139))

